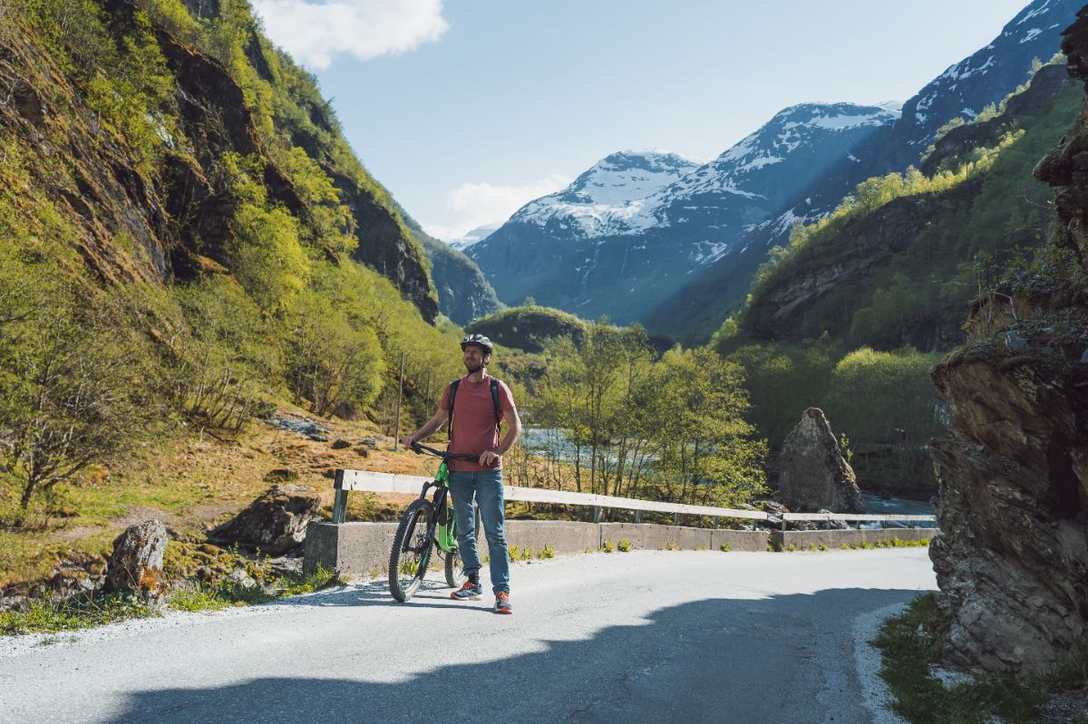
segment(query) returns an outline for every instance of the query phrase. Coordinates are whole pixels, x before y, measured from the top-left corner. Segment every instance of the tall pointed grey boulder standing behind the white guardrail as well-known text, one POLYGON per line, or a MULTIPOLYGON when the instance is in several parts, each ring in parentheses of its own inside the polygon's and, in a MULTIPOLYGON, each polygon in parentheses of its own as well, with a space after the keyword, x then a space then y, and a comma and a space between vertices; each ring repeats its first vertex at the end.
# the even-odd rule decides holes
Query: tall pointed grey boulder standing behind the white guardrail
POLYGON ((778 498, 790 510, 864 513, 865 503, 850 463, 824 411, 808 408, 782 444, 778 498))

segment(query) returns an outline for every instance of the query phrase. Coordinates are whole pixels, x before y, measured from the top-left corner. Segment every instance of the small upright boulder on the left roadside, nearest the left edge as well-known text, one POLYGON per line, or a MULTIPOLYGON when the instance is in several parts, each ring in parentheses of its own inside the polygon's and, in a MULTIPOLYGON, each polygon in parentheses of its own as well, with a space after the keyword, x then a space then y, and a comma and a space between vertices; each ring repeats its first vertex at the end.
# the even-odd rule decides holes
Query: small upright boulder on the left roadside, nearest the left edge
POLYGON ((170 581, 162 570, 166 526, 147 521, 128 526, 113 541, 106 564, 106 590, 131 592, 148 606, 161 606, 170 596, 170 581))

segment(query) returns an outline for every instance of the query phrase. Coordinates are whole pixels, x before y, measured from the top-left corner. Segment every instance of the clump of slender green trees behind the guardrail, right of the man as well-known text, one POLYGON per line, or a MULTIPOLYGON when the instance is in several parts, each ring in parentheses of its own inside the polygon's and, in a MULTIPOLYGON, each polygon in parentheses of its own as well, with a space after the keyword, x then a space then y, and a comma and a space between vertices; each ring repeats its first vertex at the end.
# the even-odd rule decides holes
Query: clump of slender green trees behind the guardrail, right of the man
POLYGON ((545 460, 515 469, 520 484, 727 505, 765 490, 739 365, 705 348, 657 357, 641 328, 605 322, 547 358, 523 405, 545 460))

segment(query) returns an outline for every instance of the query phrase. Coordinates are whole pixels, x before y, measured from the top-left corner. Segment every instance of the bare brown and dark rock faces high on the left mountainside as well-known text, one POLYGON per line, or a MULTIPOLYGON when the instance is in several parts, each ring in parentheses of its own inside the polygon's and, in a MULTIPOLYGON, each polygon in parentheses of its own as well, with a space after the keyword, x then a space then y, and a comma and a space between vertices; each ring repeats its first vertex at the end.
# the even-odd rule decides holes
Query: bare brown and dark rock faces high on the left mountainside
MULTIPOLYGON (((104 1, 102 9, 118 38, 137 14, 137 7, 127 0, 104 1)), ((193 10, 200 16, 218 13, 214 3, 201 2, 193 10)), ((269 202, 297 219, 309 217, 311 210, 290 178, 262 147, 238 82, 218 60, 170 30, 152 28, 175 88, 169 113, 186 143, 165 152, 153 168, 141 166, 123 134, 103 128, 102 120, 87 107, 87 89, 73 79, 71 68, 40 47, 39 39, 20 33, 14 23, 3 30, 0 141, 17 139, 21 148, 29 149, 22 163, 28 203, 30 196, 44 194, 57 205, 76 229, 73 246, 99 278, 170 283, 215 267, 210 262, 224 264, 224 240, 236 203, 221 162, 228 153, 263 158, 269 202), (131 239, 133 248, 119 246, 119 237, 131 239)), ((264 67, 267 74, 256 35, 249 46, 254 67, 258 73, 264 67)), ((264 79, 274 80, 270 75, 264 79)), ((338 134, 329 123, 321 130, 330 137, 338 134)), ((354 167, 342 170, 344 162, 330 158, 319 143, 309 142, 312 139, 293 140, 329 174, 349 208, 358 239, 354 258, 393 280, 423 319, 433 322, 437 304, 422 248, 411 239, 392 201, 376 198, 380 188, 375 191, 360 183, 354 167)))

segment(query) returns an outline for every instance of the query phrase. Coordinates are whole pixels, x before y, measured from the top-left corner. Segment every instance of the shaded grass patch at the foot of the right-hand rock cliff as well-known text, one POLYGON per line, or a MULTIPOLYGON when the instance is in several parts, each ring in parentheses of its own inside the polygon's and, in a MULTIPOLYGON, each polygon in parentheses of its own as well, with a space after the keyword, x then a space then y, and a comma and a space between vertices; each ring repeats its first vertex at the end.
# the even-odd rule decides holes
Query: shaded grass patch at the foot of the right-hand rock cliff
POLYGON ((901 615, 885 622, 873 642, 880 649, 880 676, 895 702, 891 708, 912 724, 1014 724, 1037 721, 1049 694, 1088 688, 1088 653, 1071 656, 1046 676, 1012 672, 945 687, 930 674, 938 662, 948 623, 934 594, 914 599, 901 615))

